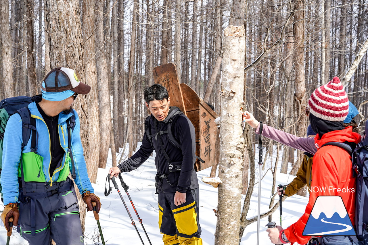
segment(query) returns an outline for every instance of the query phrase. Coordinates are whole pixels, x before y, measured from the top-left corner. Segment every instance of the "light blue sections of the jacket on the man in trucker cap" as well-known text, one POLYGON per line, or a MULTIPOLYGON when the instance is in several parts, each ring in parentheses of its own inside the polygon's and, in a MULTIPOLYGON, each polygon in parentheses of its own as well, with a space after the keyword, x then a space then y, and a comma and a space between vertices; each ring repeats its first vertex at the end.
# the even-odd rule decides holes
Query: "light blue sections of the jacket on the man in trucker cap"
MULTIPOLYGON (((51 164, 51 137, 49 129, 39 113, 36 102, 32 102, 28 105, 31 116, 36 118, 36 129, 38 132, 37 152, 43 157, 42 171, 45 175, 45 180, 49 184, 56 182, 59 178, 60 171, 66 167, 65 157, 68 149, 68 134, 67 134, 67 119, 72 116, 73 113, 59 114, 59 121, 57 129, 59 132, 60 145, 65 150, 61 166, 58 166, 53 174, 50 174, 51 164)), ((75 114, 75 127, 71 135, 71 150, 74 159, 76 179, 79 192, 82 194, 86 191, 94 192, 91 182, 89 181, 87 174, 86 162, 83 156, 83 148, 81 143, 80 122, 77 112, 75 114)), ((21 153, 28 153, 31 151, 32 135, 27 145, 21 152, 22 145, 22 119, 18 113, 15 113, 8 120, 4 134, 4 146, 3 146, 3 170, 1 171, 1 185, 3 186, 4 204, 19 202, 19 183, 18 183, 18 166, 20 164, 21 153)), ((69 165, 70 171, 72 170, 71 164, 69 165)))

